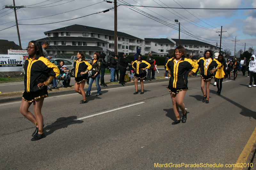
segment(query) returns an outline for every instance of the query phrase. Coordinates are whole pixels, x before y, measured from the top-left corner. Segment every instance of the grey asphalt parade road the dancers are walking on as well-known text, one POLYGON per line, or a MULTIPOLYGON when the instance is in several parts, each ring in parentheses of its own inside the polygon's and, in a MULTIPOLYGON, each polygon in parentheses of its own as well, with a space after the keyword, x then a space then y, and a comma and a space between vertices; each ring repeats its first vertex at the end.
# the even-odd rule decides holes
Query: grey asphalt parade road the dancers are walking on
POLYGON ((86 104, 79 104, 82 96, 76 93, 49 97, 42 109, 46 137, 33 142, 35 128, 20 114, 20 102, 0 104, 0 169, 151 170, 166 169, 155 163, 235 164, 256 126, 256 88, 247 88, 248 81, 241 74, 236 81, 225 79, 221 96, 210 85, 206 104, 200 78, 188 79, 188 119, 177 125, 171 124, 175 116, 168 82, 145 84, 143 95, 133 95, 134 86, 102 90, 100 96, 93 91, 86 104), (94 114, 99 115, 85 117, 94 114), (78 118, 84 119, 74 121, 78 118))

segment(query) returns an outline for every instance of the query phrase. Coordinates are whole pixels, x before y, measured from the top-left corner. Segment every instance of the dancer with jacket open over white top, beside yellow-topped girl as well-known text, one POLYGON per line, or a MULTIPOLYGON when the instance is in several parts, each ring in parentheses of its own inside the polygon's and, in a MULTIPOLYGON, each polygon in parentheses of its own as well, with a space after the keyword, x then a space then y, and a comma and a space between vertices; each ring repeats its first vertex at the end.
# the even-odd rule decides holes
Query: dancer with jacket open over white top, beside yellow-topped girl
POLYGON ((220 68, 221 64, 216 59, 212 58, 212 51, 206 50, 204 52, 204 57, 197 60, 200 70, 201 77, 201 90, 204 95, 203 102, 209 103, 209 95, 210 95, 210 83, 213 78, 213 72, 220 68), (213 69, 215 67, 215 69, 213 69), (206 84, 206 85, 205 85, 206 84), (206 93, 204 89, 204 85, 206 87, 206 93))

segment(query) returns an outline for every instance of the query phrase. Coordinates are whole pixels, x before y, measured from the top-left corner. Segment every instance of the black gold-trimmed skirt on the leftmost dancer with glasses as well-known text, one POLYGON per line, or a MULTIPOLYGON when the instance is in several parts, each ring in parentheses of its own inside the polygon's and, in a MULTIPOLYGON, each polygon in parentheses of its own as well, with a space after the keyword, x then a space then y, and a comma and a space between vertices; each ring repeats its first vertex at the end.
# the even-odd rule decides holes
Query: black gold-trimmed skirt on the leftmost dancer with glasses
POLYGON ((29 103, 36 101, 37 99, 40 99, 42 97, 43 98, 48 97, 47 88, 43 88, 36 92, 23 92, 23 95, 22 95, 22 99, 24 99, 29 103))

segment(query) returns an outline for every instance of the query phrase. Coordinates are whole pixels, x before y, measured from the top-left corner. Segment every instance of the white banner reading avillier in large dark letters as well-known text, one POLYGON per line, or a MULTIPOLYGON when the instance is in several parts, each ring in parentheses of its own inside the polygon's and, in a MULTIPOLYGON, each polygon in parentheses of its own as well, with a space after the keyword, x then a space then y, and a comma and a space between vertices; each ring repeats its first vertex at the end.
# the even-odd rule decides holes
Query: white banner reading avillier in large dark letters
POLYGON ((0 71, 21 71, 23 55, 0 55, 0 71))

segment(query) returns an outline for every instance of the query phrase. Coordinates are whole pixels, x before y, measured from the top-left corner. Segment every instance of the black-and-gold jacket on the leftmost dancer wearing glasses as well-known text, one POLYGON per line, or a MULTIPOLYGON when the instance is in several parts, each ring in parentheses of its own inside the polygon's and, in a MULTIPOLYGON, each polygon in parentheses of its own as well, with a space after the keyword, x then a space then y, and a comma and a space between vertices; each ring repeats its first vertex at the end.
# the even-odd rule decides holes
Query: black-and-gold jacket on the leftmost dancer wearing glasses
POLYGON ((36 92, 46 86, 38 87, 38 83, 43 83, 49 76, 60 75, 58 67, 43 56, 37 55, 33 60, 28 57, 24 63, 24 85, 26 92, 36 92))

